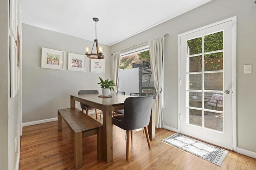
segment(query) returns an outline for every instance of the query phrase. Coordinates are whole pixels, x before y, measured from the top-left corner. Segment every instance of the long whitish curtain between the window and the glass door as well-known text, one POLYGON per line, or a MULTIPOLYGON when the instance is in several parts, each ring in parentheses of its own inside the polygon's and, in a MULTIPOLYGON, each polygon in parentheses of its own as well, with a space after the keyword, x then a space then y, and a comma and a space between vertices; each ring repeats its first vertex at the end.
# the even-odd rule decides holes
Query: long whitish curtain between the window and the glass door
POLYGON ((162 124, 162 73, 164 59, 164 36, 148 41, 151 70, 156 88, 156 127, 162 124))

